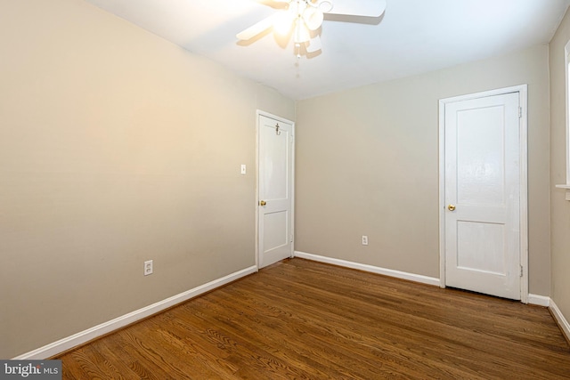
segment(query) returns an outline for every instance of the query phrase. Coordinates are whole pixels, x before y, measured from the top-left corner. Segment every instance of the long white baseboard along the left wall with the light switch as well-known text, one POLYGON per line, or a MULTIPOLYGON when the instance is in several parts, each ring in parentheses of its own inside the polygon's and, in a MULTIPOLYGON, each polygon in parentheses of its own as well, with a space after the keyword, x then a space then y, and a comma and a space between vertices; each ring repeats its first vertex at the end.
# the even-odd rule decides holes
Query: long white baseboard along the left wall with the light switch
POLYGON ((152 314, 156 314, 159 311, 166 310, 167 308, 172 307, 177 303, 183 303, 184 301, 187 301, 198 295, 202 295, 206 292, 209 292, 210 290, 216 289, 216 287, 221 287, 225 284, 235 281, 236 279, 248 276, 249 274, 255 273, 256 271, 257 271, 256 266, 251 266, 244 270, 236 271, 221 279, 215 279, 213 281, 208 282, 207 284, 201 285, 199 287, 194 287, 179 295, 173 295, 172 297, 159 301, 158 303, 152 303, 151 305, 143 307, 142 309, 129 312, 128 314, 120 316, 116 319, 111 319, 110 321, 104 322, 101 325, 88 328, 84 331, 74 334, 73 336, 68 336, 57 342, 53 342, 52 344, 46 344, 45 346, 40 347, 37 350, 24 353, 13 359, 44 360, 50 358, 54 355, 57 355, 58 353, 65 352, 73 347, 76 347, 79 344, 84 344, 99 336, 104 336, 105 334, 117 330, 120 327, 125 327, 126 325, 136 322, 137 320, 149 317, 152 314))

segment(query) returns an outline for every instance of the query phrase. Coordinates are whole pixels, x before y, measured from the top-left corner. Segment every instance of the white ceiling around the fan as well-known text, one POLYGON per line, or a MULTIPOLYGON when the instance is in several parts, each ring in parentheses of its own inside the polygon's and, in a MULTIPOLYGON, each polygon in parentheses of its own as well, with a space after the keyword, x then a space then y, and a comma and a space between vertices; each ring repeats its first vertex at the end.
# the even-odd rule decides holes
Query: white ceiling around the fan
POLYGON ((297 59, 293 43, 272 33, 250 44, 235 37, 277 12, 271 0, 85 1, 297 100, 547 44, 570 4, 387 0, 384 15, 366 23, 325 19, 322 52, 297 59))

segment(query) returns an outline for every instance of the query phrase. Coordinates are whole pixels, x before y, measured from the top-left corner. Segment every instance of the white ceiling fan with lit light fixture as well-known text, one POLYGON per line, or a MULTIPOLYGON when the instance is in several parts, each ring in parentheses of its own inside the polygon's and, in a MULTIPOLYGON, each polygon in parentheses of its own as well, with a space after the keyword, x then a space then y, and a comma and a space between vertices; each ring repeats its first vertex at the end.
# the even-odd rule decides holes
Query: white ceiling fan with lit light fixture
POLYGON ((297 57, 300 57, 301 46, 305 46, 306 53, 321 50, 318 29, 322 26, 325 13, 380 17, 386 10, 386 0, 273 0, 273 3, 281 5, 281 10, 242 30, 236 36, 241 41, 248 41, 273 28, 273 32, 278 35, 293 37, 297 57))

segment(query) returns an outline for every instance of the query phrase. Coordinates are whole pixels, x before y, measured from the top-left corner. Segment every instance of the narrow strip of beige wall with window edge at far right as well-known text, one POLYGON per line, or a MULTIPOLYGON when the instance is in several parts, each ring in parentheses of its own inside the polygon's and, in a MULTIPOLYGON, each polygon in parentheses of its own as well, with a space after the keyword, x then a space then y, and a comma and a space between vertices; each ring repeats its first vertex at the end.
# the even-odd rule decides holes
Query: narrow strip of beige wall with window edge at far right
POLYGON ((550 221, 552 287, 550 297, 570 320, 570 202, 566 191, 566 73, 564 47, 570 40, 570 15, 550 41, 550 221))

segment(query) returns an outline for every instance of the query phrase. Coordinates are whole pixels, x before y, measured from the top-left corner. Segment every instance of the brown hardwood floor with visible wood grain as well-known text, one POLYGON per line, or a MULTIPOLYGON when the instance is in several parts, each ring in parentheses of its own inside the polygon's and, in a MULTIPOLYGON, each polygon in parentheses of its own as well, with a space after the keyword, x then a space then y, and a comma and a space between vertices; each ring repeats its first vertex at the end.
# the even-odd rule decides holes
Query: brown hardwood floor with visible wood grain
POLYGON ((550 312, 291 259, 61 357, 64 379, 562 379, 550 312))

